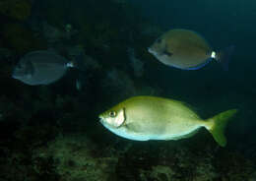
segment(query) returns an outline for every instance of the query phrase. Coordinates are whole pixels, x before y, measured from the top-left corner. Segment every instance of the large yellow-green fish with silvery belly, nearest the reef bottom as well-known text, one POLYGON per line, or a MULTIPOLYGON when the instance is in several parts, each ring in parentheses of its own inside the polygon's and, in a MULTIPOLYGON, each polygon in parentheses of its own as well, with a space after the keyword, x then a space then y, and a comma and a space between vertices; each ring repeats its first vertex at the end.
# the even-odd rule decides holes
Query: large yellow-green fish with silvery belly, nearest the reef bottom
POLYGON ((179 140, 206 128, 222 147, 224 128, 236 109, 201 119, 185 103, 156 96, 134 96, 99 115, 100 123, 112 133, 135 141, 179 140))

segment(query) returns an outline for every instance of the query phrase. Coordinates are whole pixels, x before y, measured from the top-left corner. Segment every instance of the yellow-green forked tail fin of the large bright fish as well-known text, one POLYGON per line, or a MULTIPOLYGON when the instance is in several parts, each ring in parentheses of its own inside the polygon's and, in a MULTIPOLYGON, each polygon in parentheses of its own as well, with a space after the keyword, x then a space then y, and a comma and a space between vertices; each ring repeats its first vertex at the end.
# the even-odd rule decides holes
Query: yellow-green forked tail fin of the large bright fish
POLYGON ((227 122, 233 117, 233 115, 237 112, 236 109, 230 109, 224 111, 213 118, 208 119, 211 126, 207 126, 206 128, 213 135, 215 141, 221 146, 224 147, 226 145, 226 139, 224 136, 224 129, 227 122))

